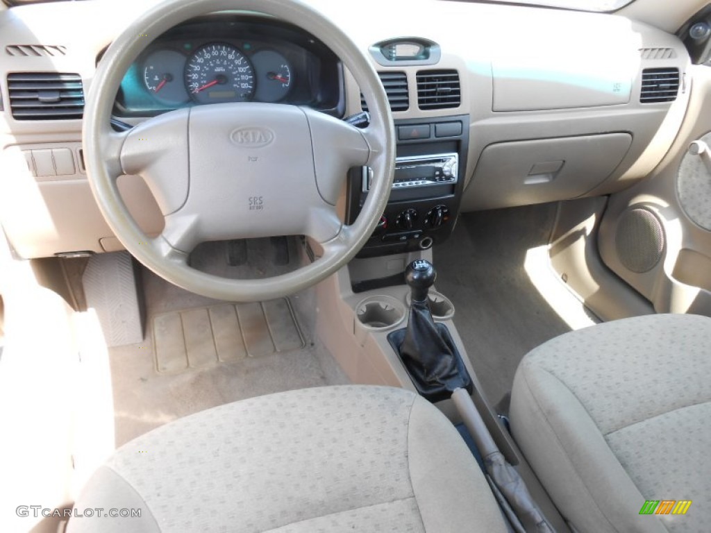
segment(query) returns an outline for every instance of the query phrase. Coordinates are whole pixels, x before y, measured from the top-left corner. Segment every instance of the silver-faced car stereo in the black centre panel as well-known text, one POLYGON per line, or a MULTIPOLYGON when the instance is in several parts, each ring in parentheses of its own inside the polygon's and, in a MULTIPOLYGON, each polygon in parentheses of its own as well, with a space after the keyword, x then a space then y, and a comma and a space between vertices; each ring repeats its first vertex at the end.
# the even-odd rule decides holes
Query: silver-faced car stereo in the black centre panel
MULTIPOLYGON (((398 157, 392 188, 454 185, 459 176, 459 154, 398 157)), ((373 171, 363 167, 363 193, 370 190, 373 171)))

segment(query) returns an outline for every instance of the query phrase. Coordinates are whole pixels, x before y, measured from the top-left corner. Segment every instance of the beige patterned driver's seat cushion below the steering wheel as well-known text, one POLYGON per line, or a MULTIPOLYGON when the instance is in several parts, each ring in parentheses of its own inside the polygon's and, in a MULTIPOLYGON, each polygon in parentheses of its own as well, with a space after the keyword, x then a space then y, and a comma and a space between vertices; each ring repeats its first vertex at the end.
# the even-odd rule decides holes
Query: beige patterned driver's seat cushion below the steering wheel
POLYGON ((162 426, 94 475, 75 509, 96 507, 141 517, 68 532, 506 531, 454 426, 387 387, 282 392, 162 426))

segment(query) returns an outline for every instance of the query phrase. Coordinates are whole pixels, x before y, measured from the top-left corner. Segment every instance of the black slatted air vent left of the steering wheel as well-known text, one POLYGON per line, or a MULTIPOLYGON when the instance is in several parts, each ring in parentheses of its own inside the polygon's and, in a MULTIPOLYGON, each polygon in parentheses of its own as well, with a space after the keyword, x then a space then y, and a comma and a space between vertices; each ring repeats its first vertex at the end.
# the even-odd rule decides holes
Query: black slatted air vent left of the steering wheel
POLYGON ((7 76, 10 109, 17 120, 80 119, 84 89, 78 74, 15 72, 7 76))

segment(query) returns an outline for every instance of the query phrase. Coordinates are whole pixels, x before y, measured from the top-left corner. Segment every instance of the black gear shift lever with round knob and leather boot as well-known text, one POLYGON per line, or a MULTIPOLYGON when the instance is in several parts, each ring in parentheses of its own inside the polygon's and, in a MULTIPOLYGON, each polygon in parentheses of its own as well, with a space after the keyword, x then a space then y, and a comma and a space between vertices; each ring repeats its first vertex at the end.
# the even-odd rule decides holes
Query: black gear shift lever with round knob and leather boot
POLYGON ((429 311, 427 293, 437 277, 432 263, 413 261, 405 269, 412 302, 407 328, 387 335, 387 340, 422 396, 432 402, 447 399, 455 389, 471 392, 471 378, 444 324, 436 324, 429 311))

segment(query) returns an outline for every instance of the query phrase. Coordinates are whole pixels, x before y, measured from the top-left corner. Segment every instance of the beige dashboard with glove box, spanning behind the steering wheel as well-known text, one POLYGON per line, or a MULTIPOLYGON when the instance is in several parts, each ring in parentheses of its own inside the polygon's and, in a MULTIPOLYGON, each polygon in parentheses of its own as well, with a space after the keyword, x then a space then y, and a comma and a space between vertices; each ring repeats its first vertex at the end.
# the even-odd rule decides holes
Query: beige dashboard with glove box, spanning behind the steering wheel
MULTIPOLYGON (((410 103, 393 112, 396 120, 469 117, 464 211, 629 186, 665 156, 692 90, 678 38, 624 16, 437 0, 367 0, 357 9, 309 3, 367 53, 392 38, 437 43, 441 55, 427 69, 456 72, 456 107, 420 107, 422 65, 383 65, 375 57, 373 64, 381 73, 405 74, 410 103), (675 97, 648 99, 643 85, 652 80, 666 89, 658 80, 670 72, 675 97)), ((0 221, 19 256, 111 251, 120 243, 87 185, 81 120, 16 119, 8 76, 75 73, 88 92, 97 57, 148 4, 97 0, 0 11, 0 221)), ((360 92, 348 75, 344 94, 346 114, 360 111, 360 92)), ((144 230, 159 232, 161 215, 144 183, 122 178, 122 193, 144 230)))

